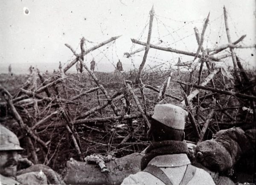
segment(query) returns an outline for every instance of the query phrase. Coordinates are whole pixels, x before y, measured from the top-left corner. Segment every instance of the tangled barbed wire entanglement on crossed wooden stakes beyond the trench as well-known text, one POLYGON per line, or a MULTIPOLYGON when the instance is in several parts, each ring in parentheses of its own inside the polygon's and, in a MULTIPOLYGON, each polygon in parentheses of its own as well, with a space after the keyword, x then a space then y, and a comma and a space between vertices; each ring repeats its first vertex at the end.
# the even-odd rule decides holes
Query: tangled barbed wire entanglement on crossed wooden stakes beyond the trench
POLYGON ((84 161, 93 153, 120 157, 144 150, 156 104, 172 103, 189 112, 187 142, 234 126, 255 127, 255 71, 245 70, 255 44, 242 42, 246 33, 237 32, 234 23, 227 29, 229 20, 225 11, 214 20, 187 22, 152 9, 125 51, 132 66, 126 71, 116 67, 123 57, 116 46, 120 36, 100 43, 81 38, 75 49, 65 44, 72 57, 55 73, 34 69, 18 79, 23 85, 15 89, 9 87, 12 78, 3 81, 0 121, 19 136, 25 156, 56 171, 71 157, 84 161), (226 30, 237 38, 231 41, 226 30), (69 74, 78 63, 83 72, 69 74), (115 71, 99 72, 105 63, 115 71))

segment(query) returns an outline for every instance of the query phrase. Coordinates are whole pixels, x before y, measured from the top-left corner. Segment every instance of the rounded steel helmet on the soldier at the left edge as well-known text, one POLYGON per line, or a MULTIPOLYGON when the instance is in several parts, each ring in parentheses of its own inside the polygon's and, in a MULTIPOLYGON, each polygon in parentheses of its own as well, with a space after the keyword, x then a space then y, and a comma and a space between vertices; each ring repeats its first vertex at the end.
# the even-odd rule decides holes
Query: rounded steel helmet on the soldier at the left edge
POLYGON ((23 150, 15 133, 0 125, 0 151, 23 150))

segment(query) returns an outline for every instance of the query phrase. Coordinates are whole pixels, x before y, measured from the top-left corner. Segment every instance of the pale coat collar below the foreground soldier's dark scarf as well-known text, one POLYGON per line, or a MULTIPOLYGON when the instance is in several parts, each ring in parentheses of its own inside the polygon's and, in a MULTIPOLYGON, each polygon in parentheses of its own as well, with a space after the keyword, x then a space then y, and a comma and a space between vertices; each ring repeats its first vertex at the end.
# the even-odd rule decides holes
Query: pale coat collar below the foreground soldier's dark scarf
POLYGON ((169 154, 154 157, 148 164, 157 167, 179 167, 189 165, 191 162, 185 153, 169 154))

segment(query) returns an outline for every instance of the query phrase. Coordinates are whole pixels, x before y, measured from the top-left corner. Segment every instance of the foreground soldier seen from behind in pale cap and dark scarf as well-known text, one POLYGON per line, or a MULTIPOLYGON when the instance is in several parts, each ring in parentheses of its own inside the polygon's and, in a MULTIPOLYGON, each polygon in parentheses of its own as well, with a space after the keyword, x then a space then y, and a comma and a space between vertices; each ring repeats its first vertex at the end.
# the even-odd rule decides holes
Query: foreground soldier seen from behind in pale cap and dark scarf
POLYGON ((214 185, 212 177, 191 165, 184 141, 188 113, 173 104, 157 104, 148 137, 151 144, 141 160, 140 172, 124 179, 122 185, 214 185))

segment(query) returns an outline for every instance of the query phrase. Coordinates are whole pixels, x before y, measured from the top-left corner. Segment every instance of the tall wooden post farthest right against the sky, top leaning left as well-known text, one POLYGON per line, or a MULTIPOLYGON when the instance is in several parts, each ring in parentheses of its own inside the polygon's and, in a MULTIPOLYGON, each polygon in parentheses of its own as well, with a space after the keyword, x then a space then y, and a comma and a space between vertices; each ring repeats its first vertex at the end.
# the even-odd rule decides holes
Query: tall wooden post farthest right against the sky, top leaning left
MULTIPOLYGON (((227 40, 230 44, 232 44, 231 37, 230 37, 230 29, 229 29, 228 22, 227 22, 227 11, 226 11, 225 6, 223 7, 223 9, 224 9, 224 20, 225 20, 225 27, 226 27, 226 33, 227 33, 227 40)), ((231 57, 232 57, 233 65, 234 65, 235 76, 236 76, 237 80, 239 82, 241 82, 241 78, 240 78, 238 68, 237 68, 236 54, 232 47, 230 47, 230 52, 231 52, 231 57)))

